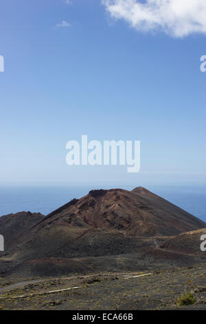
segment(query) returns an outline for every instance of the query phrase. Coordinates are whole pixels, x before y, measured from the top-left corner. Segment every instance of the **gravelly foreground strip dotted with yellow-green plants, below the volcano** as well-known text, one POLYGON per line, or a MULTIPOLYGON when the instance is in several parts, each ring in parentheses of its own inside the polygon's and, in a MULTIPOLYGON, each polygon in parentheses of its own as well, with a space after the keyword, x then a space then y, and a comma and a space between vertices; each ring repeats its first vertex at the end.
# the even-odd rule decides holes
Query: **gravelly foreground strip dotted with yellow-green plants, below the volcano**
POLYGON ((205 264, 141 272, 99 273, 0 283, 0 310, 205 310, 205 264), (193 305, 180 306, 187 290, 193 305))

